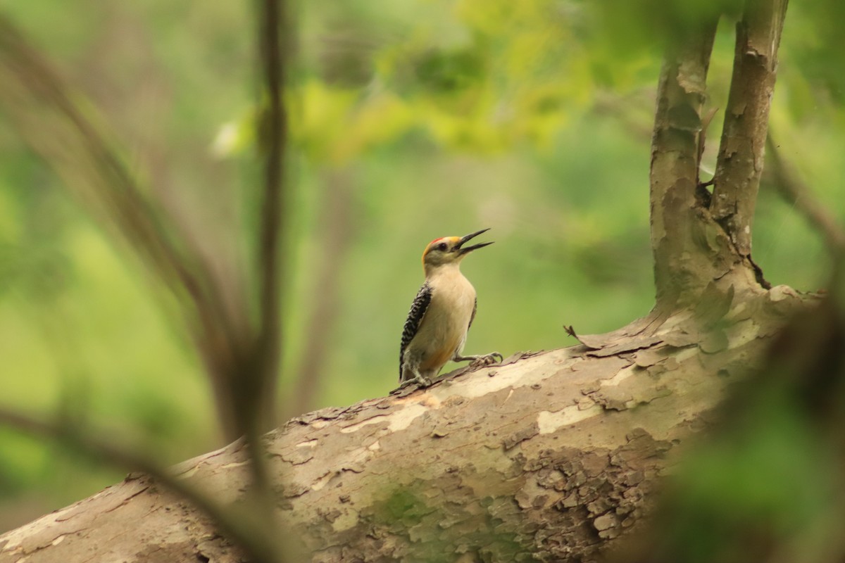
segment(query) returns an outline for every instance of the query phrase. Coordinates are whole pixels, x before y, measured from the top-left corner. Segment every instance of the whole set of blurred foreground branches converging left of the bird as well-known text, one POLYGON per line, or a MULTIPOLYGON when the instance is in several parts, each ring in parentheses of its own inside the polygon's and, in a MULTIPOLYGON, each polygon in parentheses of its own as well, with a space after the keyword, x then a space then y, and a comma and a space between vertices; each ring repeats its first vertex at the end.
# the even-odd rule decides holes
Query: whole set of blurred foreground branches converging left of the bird
MULTIPOLYGON (((266 563, 281 561, 275 518, 274 486, 265 469, 262 433, 275 414, 275 382, 281 339, 281 249, 285 233, 286 118, 282 106, 284 64, 281 35, 284 4, 264 0, 256 7, 261 91, 267 102, 260 123, 264 133, 264 187, 261 192, 257 257, 257 290, 248 306, 229 311, 226 295, 199 249, 170 220, 161 205, 150 201, 128 171, 101 128, 93 110, 74 102, 57 73, 31 48, 13 24, 0 18, 0 107, 7 111, 27 143, 57 171, 68 189, 99 219, 128 241, 165 286, 177 297, 194 342, 215 389, 221 423, 230 439, 243 436, 251 472, 243 500, 245 512, 186 485, 152 457, 115 447, 117 439, 101 440, 90 430, 67 424, 41 423, 14 413, 0 420, 20 430, 63 440, 91 457, 140 469, 184 495, 215 519, 252 555, 266 563), (250 322, 255 311, 256 322, 250 322), (251 485, 251 486, 250 486, 251 485)), ((249 297, 248 296, 248 297, 249 297)), ((231 302, 231 301, 230 301, 231 302)), ((248 303, 250 300, 240 300, 248 303)), ((67 423, 67 421, 64 421, 67 423)))

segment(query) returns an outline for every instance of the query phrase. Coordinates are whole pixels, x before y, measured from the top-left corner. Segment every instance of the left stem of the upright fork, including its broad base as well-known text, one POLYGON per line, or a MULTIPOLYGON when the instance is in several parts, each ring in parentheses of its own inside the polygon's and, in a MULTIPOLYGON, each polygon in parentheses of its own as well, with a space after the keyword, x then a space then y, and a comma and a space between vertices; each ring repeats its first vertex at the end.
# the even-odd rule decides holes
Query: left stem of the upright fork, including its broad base
MULTIPOLYGON (((714 219, 711 193, 699 177, 709 123, 709 117, 702 116, 702 106, 715 32, 713 22, 701 35, 674 46, 657 88, 651 140, 651 249, 656 312, 663 316, 698 306, 702 296, 709 302, 717 295, 723 300, 733 291, 758 292, 768 287, 750 257, 737 252, 729 232, 714 219)), ((758 113, 754 118, 765 120, 766 115, 758 113)), ((747 121, 752 121, 751 116, 747 121)), ((755 127, 763 135, 759 139, 763 146, 766 127, 755 127)), ((759 180, 757 176, 755 181, 759 180)), ((756 184, 748 197, 756 197, 756 184)))

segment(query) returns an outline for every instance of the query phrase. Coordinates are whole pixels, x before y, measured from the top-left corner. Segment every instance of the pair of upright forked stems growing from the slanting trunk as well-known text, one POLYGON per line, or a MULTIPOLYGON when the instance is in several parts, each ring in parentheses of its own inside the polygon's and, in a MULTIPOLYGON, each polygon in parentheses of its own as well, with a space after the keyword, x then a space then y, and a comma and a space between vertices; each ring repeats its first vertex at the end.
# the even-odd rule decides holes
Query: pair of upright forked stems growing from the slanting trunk
POLYGON ((752 0, 737 27, 728 111, 712 194, 699 179, 706 75, 716 24, 670 50, 651 141, 651 249, 657 310, 714 291, 769 289, 751 260, 753 218, 786 0, 752 0), (756 289, 755 289, 756 288, 756 289))

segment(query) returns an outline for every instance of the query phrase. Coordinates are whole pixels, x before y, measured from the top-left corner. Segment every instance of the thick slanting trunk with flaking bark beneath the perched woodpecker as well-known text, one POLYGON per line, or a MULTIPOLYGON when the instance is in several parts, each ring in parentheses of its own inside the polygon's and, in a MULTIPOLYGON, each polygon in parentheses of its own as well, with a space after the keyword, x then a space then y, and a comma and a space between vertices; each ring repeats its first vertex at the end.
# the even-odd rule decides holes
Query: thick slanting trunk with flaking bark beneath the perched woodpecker
MULTIPOLYGON (((803 302, 783 287, 732 296, 291 420, 266 450, 293 560, 597 560, 643 522, 658 478, 803 302)), ((237 504, 244 450, 176 470, 237 504)), ((244 560, 143 476, 0 536, 0 562, 23 557, 244 560)))

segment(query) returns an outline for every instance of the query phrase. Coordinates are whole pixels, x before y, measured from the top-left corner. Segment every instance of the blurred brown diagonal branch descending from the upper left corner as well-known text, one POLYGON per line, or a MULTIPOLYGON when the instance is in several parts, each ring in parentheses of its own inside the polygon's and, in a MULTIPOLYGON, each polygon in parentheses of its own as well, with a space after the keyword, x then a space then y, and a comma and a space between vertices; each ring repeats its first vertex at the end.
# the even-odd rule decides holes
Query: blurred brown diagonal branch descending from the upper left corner
MULTIPOLYGON (((215 390, 226 436, 239 436, 229 379, 248 360, 246 307, 226 308, 225 288, 191 239, 145 196, 101 119, 14 25, 0 16, 0 108, 63 180, 63 186, 128 242, 176 297, 215 390), (82 101, 80 101, 82 100, 82 101)), ((232 297, 232 296, 230 296, 232 297)), ((237 299, 234 302, 246 302, 237 299)))

